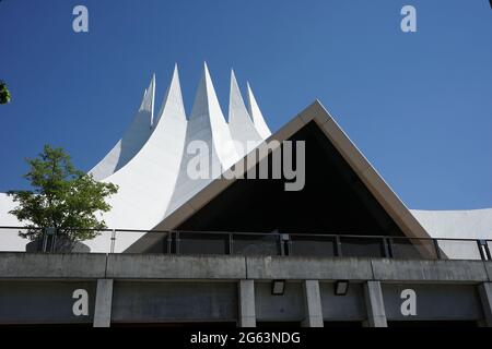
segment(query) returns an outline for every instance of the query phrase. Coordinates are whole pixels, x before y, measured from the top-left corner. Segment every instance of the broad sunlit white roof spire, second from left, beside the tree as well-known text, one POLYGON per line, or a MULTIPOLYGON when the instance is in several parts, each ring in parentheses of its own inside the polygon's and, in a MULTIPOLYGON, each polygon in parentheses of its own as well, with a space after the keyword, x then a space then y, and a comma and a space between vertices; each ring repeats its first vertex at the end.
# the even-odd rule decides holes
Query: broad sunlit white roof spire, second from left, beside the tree
MULTIPOLYGON (((105 179, 119 185, 118 193, 109 198, 113 209, 104 216, 106 224, 150 229, 164 218, 179 173, 186 129, 179 74, 175 65, 152 135, 131 161, 105 179)), ((131 243, 137 238, 122 239, 124 243, 131 243)))

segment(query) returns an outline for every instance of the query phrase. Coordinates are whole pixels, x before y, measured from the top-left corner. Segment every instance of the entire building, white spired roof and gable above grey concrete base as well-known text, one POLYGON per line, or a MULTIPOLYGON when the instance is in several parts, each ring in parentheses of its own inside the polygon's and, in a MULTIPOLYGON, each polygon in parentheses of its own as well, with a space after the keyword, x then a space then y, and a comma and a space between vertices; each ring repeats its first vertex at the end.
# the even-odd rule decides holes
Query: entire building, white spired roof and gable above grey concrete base
POLYGON ((271 134, 233 72, 227 121, 207 65, 188 118, 177 68, 154 91, 91 253, 26 253, 0 195, 0 324, 492 326, 492 209, 408 209, 319 101, 271 134))

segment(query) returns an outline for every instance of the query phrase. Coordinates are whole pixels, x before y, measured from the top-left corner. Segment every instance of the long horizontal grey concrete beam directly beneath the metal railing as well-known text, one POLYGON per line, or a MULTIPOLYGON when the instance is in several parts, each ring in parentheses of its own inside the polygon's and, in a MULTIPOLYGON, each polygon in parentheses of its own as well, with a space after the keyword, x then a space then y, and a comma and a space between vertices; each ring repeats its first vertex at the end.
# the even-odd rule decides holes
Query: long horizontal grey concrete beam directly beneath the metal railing
POLYGON ((492 262, 482 261, 0 253, 0 279, 286 279, 478 284, 492 281, 491 276, 492 262))

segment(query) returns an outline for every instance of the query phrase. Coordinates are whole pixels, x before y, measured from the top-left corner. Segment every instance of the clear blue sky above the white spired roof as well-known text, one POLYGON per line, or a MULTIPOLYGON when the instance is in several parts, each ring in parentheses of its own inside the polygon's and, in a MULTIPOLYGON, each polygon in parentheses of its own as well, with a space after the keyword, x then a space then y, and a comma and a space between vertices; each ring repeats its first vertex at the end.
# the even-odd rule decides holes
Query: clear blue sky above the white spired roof
MULTIPOLYGON (((84 170, 122 135, 153 72, 179 64, 187 111, 207 60, 274 131, 315 98, 411 208, 492 207, 492 9, 473 1, 2 0, 0 191, 49 143, 84 170), (89 9, 85 34, 72 9, 89 9), (417 9, 417 33, 400 9, 417 9)), ((307 173, 308 176, 308 173, 307 173)))

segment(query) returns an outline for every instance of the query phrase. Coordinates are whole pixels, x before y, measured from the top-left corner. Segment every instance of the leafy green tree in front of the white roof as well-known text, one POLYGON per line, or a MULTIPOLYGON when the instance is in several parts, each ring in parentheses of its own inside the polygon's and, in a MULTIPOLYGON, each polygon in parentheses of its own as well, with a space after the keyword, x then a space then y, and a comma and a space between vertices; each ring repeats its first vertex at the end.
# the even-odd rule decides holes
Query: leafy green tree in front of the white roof
POLYGON ((38 228, 55 228, 71 240, 89 240, 106 228, 101 214, 112 208, 106 198, 117 185, 77 170, 62 148, 45 145, 37 158, 26 161, 31 169, 24 178, 33 190, 8 193, 19 203, 10 213, 26 222, 21 237, 35 240, 43 234, 38 228))

